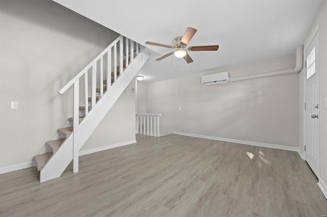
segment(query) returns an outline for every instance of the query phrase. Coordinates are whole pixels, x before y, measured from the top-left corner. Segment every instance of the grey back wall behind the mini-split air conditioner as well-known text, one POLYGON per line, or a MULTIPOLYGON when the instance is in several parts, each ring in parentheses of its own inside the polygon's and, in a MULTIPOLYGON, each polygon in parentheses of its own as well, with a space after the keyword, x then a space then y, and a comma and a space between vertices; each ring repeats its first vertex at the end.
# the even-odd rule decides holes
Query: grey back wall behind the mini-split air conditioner
MULTIPOLYGON (((290 69, 295 59, 291 55, 210 73, 229 71, 237 77, 290 69)), ((298 147, 298 74, 203 86, 201 75, 210 73, 147 84, 146 111, 162 114, 160 132, 298 147)))

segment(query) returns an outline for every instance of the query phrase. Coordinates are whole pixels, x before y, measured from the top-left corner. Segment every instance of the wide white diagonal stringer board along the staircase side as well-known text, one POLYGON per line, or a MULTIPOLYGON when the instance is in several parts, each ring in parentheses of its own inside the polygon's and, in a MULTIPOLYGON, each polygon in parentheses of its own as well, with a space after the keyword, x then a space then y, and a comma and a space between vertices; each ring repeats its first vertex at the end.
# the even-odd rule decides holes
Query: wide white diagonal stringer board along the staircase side
MULTIPOLYGON (((146 51, 139 53, 128 65, 119 78, 108 88, 97 104, 79 125, 78 150, 84 145, 92 132, 100 124, 101 120, 108 113, 115 101, 124 92, 126 87, 135 78, 137 72, 142 68, 150 55, 146 51)), ((48 181, 61 176, 69 163, 73 160, 73 137, 74 131, 61 144, 58 151, 52 155, 40 171, 40 182, 48 181)))

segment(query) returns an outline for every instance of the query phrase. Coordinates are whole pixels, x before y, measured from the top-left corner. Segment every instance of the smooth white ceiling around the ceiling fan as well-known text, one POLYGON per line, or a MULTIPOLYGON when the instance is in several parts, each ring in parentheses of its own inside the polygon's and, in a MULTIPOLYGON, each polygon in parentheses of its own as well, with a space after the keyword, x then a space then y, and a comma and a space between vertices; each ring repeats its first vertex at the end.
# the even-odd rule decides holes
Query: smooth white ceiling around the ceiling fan
POLYGON ((171 49, 147 45, 156 53, 138 74, 151 83, 295 53, 325 0, 54 1, 143 45, 172 45, 188 26, 198 30, 188 46, 219 45, 190 51, 187 71, 174 71, 174 56, 155 61, 171 49))

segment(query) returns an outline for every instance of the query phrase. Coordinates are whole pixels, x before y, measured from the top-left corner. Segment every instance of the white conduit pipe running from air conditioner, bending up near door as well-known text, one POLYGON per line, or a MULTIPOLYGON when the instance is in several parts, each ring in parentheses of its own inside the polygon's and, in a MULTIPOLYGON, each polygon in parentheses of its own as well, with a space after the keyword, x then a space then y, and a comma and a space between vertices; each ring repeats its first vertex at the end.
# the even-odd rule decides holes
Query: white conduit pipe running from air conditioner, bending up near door
POLYGON ((294 69, 285 69, 285 70, 266 72, 261 74, 251 74, 251 75, 245 75, 240 77, 231 77, 229 78, 229 82, 238 82, 239 80, 248 80, 248 79, 271 77, 271 76, 286 75, 286 74, 296 74, 299 73, 302 70, 302 68, 303 68, 303 45, 299 45, 296 48, 296 66, 294 69))

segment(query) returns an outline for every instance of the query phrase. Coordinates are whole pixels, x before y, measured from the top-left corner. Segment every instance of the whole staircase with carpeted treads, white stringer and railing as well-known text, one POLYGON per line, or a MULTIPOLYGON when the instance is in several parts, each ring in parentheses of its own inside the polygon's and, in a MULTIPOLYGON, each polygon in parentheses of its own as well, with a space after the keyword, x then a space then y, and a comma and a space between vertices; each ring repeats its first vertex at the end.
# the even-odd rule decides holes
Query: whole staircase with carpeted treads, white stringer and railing
POLYGON ((49 151, 34 156, 40 182, 60 177, 72 160, 73 172, 78 172, 79 150, 148 58, 142 45, 119 36, 59 91, 63 94, 74 86, 74 116, 46 142, 49 151), (81 77, 84 83, 80 89, 81 77), (80 94, 84 95, 82 106, 80 94))

